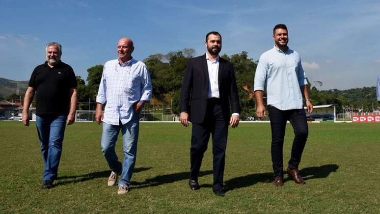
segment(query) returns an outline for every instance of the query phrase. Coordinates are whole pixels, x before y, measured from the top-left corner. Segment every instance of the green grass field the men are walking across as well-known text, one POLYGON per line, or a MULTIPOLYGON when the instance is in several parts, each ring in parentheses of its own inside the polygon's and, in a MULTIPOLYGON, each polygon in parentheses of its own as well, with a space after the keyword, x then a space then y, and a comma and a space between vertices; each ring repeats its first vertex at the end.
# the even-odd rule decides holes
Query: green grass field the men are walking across
MULTIPOLYGON (((45 190, 35 123, 0 121, 0 213, 380 213, 380 124, 309 124, 300 165, 306 185, 285 176, 283 187, 272 185, 270 125, 240 124, 229 130, 224 198, 211 188, 211 143, 201 188, 188 187, 190 131, 141 123, 132 189, 117 195, 107 186, 101 126, 67 127, 58 179, 45 190)), ((284 163, 292 139, 288 124, 284 163)))

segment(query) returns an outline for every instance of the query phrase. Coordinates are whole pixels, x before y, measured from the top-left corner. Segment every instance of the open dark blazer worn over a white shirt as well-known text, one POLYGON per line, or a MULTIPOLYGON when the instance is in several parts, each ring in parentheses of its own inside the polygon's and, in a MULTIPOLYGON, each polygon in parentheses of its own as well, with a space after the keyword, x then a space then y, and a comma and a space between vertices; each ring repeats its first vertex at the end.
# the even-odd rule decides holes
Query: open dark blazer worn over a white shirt
MULTIPOLYGON (((231 62, 219 57, 219 97, 226 124, 230 121, 230 104, 233 113, 240 114, 238 88, 231 62)), ((182 83, 180 111, 188 112, 192 123, 202 123, 206 114, 209 91, 209 72, 206 54, 189 59, 182 83)))

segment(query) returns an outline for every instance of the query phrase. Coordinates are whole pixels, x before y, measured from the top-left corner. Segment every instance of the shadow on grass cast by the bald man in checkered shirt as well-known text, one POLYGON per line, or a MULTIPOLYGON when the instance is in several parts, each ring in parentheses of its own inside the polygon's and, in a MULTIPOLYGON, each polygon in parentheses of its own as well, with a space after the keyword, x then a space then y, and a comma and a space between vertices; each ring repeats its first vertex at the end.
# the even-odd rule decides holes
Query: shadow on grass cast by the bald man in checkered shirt
MULTIPOLYGON (((200 171, 199 177, 209 175, 209 174, 213 174, 213 171, 212 170, 200 171)), ((132 181, 131 184, 136 186, 134 188, 156 187, 163 184, 169 184, 169 183, 174 183, 177 181, 188 180, 189 176, 190 176, 189 171, 178 172, 178 173, 167 174, 167 175, 158 175, 154 178, 146 179, 144 182, 132 181)))

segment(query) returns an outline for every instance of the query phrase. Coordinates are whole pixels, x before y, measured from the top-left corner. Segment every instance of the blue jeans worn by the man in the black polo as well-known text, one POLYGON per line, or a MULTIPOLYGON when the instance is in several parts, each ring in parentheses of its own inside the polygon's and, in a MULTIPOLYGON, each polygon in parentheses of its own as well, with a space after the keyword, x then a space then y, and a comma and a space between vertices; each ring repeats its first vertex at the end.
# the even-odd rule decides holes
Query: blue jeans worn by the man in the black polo
POLYGON ((36 116, 37 132, 41 143, 41 154, 45 164, 43 173, 44 181, 54 181, 57 178, 66 118, 66 115, 36 116))

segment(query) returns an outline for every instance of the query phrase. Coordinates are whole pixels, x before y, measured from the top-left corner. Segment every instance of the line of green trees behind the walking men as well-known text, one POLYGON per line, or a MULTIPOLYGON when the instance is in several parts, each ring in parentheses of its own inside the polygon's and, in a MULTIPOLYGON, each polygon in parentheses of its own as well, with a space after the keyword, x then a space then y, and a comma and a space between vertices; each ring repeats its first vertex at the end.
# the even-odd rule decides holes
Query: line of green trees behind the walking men
MULTIPOLYGON (((179 115, 179 97, 182 79, 185 75, 189 58, 194 57, 194 49, 183 49, 168 52, 166 54, 153 54, 143 62, 148 67, 153 85, 153 99, 151 105, 160 106, 162 103, 172 104, 172 113, 179 115)), ((248 58, 248 53, 226 55, 221 57, 234 64, 236 80, 239 90, 240 105, 242 107, 241 117, 252 117, 255 115, 255 99, 253 92, 253 77, 255 75, 257 61, 248 58)), ((88 106, 88 101, 96 101, 99 83, 102 78, 103 65, 95 65, 87 69, 87 83, 77 76, 78 98, 80 110, 94 110, 95 105, 88 106)), ((307 71, 306 71, 307 73, 307 71)), ((372 111, 372 107, 380 107, 376 100, 376 87, 363 87, 348 90, 318 90, 322 86, 321 81, 309 82, 309 94, 312 104, 336 106, 337 113, 342 111, 342 106, 355 110, 372 111)), ((265 94, 264 94, 265 95, 265 94)), ((19 95, 11 95, 12 98, 20 99, 19 95)))

